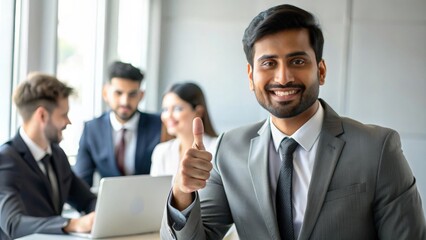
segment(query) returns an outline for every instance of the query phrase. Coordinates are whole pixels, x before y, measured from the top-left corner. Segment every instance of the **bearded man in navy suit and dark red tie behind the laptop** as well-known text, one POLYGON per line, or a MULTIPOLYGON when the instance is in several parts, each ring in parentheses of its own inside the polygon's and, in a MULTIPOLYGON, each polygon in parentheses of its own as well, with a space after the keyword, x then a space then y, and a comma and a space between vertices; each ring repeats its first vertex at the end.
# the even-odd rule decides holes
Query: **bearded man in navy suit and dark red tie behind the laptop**
POLYGON ((100 177, 149 174, 151 154, 160 142, 159 115, 141 112, 143 74, 129 63, 116 61, 109 68, 103 98, 111 108, 85 123, 75 173, 90 186, 100 177))

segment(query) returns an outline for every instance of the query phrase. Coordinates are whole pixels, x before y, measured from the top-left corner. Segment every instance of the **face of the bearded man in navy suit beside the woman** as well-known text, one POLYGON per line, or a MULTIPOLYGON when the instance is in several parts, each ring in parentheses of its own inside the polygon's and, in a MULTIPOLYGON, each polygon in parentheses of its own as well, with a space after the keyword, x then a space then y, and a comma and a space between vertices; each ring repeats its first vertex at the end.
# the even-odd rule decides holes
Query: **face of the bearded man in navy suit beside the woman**
POLYGON ((115 113, 117 120, 125 123, 137 111, 143 92, 140 90, 140 83, 137 81, 112 78, 111 82, 104 88, 103 97, 115 113))

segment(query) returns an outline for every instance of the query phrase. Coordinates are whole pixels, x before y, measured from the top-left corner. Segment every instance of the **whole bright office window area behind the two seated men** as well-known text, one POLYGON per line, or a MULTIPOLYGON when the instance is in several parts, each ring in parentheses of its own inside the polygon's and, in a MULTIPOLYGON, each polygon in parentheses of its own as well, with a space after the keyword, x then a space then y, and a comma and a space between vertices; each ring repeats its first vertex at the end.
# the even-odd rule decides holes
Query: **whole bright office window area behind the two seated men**
POLYGON ((56 74, 77 91, 61 142, 74 164, 83 123, 106 110, 108 65, 122 60, 146 71, 150 2, 0 0, 0 141, 20 125, 11 98, 17 83, 31 71, 56 74))

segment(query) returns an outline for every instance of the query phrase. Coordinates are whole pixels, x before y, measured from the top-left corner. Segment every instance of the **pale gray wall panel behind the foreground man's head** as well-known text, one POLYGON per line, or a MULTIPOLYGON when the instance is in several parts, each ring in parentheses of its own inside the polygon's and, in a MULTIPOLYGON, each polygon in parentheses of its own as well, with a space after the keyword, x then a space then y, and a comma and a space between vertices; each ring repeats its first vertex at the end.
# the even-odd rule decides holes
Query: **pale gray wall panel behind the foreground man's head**
MULTIPOLYGON (((336 108, 344 109, 347 51, 345 1, 328 0, 323 4, 297 1, 298 6, 319 16, 326 44, 324 58, 329 72, 321 97, 336 108), (327 4, 326 4, 327 5, 327 4), (336 11, 340 9, 340 11, 336 11), (336 94, 337 93, 337 94, 336 94)), ((267 116, 249 90, 247 62, 242 36, 251 19, 280 1, 247 0, 163 0, 160 49, 158 107, 170 83, 192 80, 200 83, 214 125, 219 132, 267 116), (247 4, 249 3, 249 4, 247 4)), ((149 89, 148 89, 149 91, 149 89)))

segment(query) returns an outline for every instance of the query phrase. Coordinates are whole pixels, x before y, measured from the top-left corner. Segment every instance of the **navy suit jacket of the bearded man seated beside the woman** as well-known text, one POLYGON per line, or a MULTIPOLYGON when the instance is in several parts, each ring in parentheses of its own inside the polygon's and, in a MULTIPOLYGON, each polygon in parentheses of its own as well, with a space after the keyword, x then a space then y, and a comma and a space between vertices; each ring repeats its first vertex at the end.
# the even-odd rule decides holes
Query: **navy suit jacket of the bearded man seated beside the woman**
MULTIPOLYGON (((160 142, 161 119, 159 115, 140 113, 138 137, 135 153, 135 174, 149 174, 151 155, 154 147, 160 142)), ((93 173, 98 171, 101 177, 120 176, 114 157, 112 126, 110 113, 104 113, 84 125, 77 154, 74 171, 90 186, 93 184, 93 173)))

